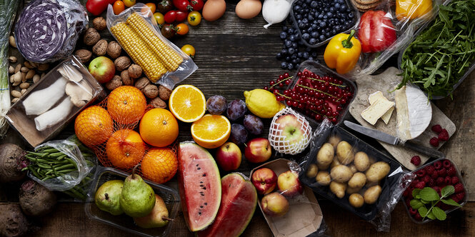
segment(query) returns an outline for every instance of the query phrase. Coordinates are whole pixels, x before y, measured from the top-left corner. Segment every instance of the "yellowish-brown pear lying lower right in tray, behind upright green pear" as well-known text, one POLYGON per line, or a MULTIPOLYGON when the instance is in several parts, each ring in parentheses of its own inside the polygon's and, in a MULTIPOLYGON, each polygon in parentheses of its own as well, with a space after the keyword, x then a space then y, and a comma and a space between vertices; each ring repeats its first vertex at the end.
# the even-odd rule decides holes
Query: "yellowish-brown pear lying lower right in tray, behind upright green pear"
POLYGON ((155 206, 151 213, 144 217, 136 217, 134 221, 141 228, 158 228, 166 226, 172 220, 169 218, 169 211, 166 209, 164 200, 155 194, 155 206))

